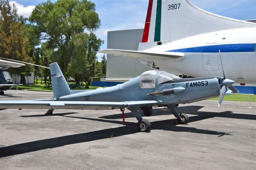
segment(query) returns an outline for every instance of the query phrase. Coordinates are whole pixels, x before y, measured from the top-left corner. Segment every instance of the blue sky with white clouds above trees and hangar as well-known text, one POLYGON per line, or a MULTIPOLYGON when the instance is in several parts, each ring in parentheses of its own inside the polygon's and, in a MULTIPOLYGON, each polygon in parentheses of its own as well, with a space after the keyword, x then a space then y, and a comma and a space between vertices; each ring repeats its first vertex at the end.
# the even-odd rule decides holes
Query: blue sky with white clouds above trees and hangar
MULTIPOLYGON (((46 0, 15 0, 18 14, 28 17, 35 5, 46 0)), ((51 0, 56 2, 56 0, 51 0)), ((96 12, 101 27, 96 31, 104 40, 100 49, 107 48, 107 31, 144 28, 148 0, 91 0, 96 4, 96 12)), ((238 20, 256 19, 256 0, 190 0, 199 8, 238 20)), ((102 54, 97 54, 101 60, 102 54)))

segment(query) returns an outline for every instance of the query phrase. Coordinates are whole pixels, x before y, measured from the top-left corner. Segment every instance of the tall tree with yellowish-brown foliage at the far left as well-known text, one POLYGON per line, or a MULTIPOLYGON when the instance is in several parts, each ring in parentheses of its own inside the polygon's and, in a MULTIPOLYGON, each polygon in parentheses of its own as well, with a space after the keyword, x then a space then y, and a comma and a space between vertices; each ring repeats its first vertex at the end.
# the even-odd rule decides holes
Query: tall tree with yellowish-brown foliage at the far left
MULTIPOLYGON (((18 17, 15 5, 10 6, 8 0, 0 1, 0 55, 1 57, 24 62, 32 62, 29 57, 29 38, 24 35, 22 17, 18 17)), ((9 69, 10 73, 20 74, 20 83, 25 84, 26 73, 30 65, 9 69)))

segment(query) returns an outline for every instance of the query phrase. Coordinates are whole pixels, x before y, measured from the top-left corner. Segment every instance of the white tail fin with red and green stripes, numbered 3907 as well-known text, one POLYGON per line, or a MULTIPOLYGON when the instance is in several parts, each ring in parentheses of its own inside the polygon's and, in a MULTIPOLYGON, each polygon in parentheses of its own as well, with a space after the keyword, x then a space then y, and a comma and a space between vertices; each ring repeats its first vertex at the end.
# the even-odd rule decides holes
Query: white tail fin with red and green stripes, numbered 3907
POLYGON ((149 0, 142 43, 172 42, 208 32, 248 27, 256 24, 206 12, 189 0, 149 0))

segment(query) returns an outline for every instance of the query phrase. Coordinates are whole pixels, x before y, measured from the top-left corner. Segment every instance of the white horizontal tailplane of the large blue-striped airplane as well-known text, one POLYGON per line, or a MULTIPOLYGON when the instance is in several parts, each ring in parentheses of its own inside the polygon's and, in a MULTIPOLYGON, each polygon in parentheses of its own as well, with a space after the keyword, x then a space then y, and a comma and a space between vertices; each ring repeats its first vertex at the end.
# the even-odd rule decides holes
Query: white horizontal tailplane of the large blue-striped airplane
POLYGON ((178 57, 184 57, 184 53, 180 52, 167 52, 162 51, 158 53, 152 53, 152 52, 145 52, 145 51, 132 51, 132 50, 122 50, 122 49, 104 49, 100 51, 100 53, 106 53, 110 55, 118 55, 118 56, 124 56, 124 57, 130 57, 140 60, 147 60, 147 59, 172 59, 172 58, 178 58, 178 57))

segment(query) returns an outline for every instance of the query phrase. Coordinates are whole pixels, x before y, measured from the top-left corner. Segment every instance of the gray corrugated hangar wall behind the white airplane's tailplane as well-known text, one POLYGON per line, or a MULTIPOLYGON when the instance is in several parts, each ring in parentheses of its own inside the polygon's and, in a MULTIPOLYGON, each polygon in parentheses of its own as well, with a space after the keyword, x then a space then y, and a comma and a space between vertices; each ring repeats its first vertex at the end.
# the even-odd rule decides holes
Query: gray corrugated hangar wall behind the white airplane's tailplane
MULTIPOLYGON (((142 40, 142 29, 109 31, 108 49, 138 50, 142 40)), ((125 82, 137 77, 144 71, 151 70, 137 59, 107 55, 106 81, 125 82)))

